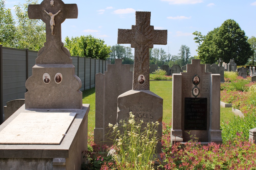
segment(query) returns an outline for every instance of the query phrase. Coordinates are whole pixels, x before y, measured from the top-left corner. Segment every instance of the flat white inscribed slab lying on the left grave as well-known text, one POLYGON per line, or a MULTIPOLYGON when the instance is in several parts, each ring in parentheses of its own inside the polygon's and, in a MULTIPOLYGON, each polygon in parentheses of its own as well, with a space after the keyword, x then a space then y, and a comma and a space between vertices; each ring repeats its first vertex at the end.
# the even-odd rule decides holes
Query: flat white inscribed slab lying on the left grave
POLYGON ((75 116, 76 113, 20 113, 0 132, 0 144, 59 145, 75 116))

